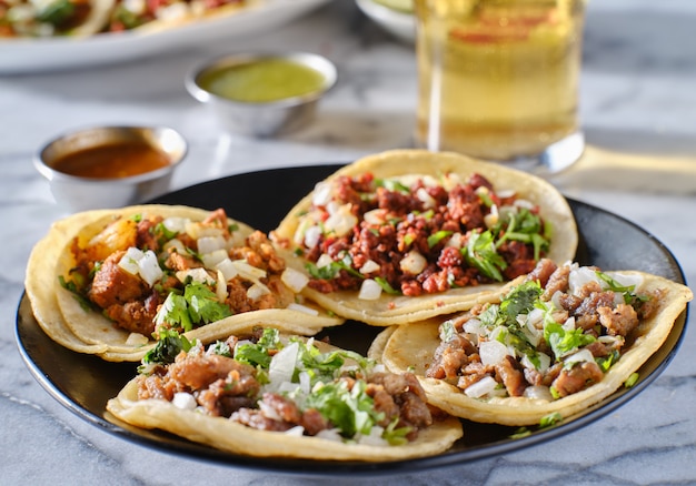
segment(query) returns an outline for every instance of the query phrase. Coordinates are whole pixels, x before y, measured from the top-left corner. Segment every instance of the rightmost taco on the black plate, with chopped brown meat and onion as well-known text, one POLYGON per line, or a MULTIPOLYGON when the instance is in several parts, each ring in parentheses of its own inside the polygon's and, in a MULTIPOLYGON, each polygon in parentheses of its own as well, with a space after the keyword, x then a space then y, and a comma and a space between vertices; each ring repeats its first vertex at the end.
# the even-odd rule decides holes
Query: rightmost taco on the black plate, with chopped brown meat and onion
POLYGON ((371 355, 392 372, 412 369, 430 403, 453 415, 538 425, 635 379, 692 298, 647 273, 544 260, 499 303, 389 328, 371 355))

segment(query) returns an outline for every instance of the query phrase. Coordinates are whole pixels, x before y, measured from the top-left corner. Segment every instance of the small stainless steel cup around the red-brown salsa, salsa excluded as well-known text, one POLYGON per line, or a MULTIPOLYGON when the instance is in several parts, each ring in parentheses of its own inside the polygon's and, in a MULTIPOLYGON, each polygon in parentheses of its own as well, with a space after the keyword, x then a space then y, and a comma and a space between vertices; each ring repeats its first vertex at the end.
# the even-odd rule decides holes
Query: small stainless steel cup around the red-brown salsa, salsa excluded
POLYGON ((56 202, 71 211, 121 207, 140 203, 169 190, 171 176, 188 152, 188 143, 166 126, 100 126, 60 135, 34 156, 37 170, 48 179, 56 202), (165 152, 170 164, 126 178, 83 178, 56 170, 56 163, 70 153, 100 145, 146 142, 165 152))

